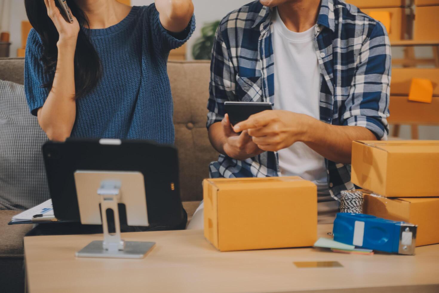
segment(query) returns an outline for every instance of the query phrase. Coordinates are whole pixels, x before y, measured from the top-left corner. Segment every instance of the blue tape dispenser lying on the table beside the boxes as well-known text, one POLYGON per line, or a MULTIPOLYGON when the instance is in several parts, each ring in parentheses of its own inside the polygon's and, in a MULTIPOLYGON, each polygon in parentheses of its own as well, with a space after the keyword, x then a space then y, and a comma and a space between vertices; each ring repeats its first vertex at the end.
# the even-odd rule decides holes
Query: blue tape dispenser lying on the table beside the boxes
POLYGON ((414 254, 417 225, 362 213, 337 213, 334 240, 389 253, 414 254))

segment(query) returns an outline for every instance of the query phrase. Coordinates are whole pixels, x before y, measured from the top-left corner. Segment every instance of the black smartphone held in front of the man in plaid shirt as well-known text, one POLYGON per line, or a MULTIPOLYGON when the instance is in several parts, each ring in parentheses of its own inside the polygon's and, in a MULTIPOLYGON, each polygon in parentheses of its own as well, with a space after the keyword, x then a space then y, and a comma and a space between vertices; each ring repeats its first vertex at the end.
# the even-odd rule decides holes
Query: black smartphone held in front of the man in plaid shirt
POLYGON ((224 108, 233 126, 247 120, 253 114, 273 110, 269 102, 224 102, 224 108))

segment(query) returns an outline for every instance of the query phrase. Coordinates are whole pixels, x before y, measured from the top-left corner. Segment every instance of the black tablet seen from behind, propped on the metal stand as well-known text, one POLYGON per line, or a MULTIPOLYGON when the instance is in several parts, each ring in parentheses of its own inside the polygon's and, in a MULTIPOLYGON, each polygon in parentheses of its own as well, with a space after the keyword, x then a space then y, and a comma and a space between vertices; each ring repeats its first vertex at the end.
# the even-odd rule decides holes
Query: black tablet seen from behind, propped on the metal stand
MULTIPOLYGON (((58 220, 80 221, 77 170, 138 171, 144 176, 150 226, 177 226, 185 212, 180 199, 177 150, 151 141, 68 139, 43 145, 50 197, 58 220)), ((121 224, 126 223, 119 204, 121 224)))

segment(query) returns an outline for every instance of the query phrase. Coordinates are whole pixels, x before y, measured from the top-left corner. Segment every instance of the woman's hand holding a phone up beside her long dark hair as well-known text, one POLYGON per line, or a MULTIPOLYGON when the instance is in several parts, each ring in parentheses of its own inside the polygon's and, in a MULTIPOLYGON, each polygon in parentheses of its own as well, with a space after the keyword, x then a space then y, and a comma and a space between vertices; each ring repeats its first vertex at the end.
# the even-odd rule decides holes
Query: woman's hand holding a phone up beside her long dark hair
POLYGON ((46 4, 47 15, 49 15, 58 30, 58 47, 62 45, 63 47, 73 46, 73 48, 76 48, 76 41, 79 33, 79 22, 76 17, 72 15, 73 22, 67 22, 62 16, 59 8, 56 6, 55 0, 44 0, 44 4, 46 4))

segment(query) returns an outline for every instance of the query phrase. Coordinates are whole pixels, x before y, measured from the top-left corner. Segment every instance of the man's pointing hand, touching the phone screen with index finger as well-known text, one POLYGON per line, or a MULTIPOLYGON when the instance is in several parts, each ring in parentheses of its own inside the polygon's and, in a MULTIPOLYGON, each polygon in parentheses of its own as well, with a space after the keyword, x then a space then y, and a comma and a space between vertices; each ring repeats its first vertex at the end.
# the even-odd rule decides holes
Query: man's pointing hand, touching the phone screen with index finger
POLYGON ((277 152, 290 147, 296 141, 304 141, 312 120, 316 119, 305 114, 268 110, 237 123, 234 131, 248 131, 258 148, 277 152))

